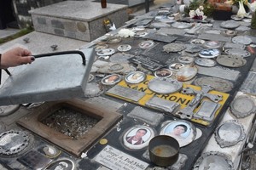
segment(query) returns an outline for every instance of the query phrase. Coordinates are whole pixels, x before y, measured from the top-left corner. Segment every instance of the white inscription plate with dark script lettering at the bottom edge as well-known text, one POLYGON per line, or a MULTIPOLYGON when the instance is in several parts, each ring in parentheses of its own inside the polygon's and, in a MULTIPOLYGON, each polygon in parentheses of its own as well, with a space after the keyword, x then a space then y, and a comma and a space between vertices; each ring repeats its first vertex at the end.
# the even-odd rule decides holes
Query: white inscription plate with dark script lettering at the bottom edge
POLYGON ((95 161, 105 167, 115 170, 143 170, 148 167, 148 163, 129 156, 124 152, 107 145, 96 157, 95 161))

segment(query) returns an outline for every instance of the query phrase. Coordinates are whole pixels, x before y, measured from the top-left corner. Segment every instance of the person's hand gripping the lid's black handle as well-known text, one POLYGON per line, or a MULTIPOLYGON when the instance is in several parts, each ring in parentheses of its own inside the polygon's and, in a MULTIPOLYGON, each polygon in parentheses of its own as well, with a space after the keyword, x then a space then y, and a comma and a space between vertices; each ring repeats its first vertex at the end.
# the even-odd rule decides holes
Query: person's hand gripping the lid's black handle
POLYGON ((26 48, 12 48, 2 54, 0 66, 7 69, 10 66, 31 64, 34 60, 32 53, 26 48))

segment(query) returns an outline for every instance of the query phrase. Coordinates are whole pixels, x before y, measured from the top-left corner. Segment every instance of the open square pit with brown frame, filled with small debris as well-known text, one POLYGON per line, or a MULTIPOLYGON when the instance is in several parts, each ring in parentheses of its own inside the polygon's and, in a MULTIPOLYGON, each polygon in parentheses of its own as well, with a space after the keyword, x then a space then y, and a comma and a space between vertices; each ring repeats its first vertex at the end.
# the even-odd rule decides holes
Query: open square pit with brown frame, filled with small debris
POLYGON ((121 117, 117 112, 102 111, 96 105, 73 99, 46 103, 18 123, 79 156, 121 117))

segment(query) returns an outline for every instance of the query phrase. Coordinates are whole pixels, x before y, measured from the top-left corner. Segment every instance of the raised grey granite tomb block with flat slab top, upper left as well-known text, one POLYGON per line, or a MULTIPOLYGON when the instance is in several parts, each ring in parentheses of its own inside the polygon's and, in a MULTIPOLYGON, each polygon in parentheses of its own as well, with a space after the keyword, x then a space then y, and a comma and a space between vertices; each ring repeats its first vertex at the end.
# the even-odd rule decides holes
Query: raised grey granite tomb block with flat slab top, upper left
POLYGON ((110 19, 116 27, 128 20, 127 5, 89 1, 65 1, 29 11, 36 31, 91 42, 107 33, 103 20, 110 19))

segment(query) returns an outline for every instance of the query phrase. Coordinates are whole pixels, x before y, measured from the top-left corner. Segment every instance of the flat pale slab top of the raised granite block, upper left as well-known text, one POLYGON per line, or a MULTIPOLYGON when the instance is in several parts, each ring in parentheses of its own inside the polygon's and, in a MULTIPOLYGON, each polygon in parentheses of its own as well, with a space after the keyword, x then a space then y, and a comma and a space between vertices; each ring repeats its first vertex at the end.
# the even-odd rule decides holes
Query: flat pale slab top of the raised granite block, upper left
POLYGON ((92 3, 89 1, 64 1, 30 10, 29 13, 56 18, 91 21, 102 18, 108 14, 113 14, 114 12, 125 8, 128 8, 128 6, 108 3, 107 8, 102 8, 101 3, 92 3))

